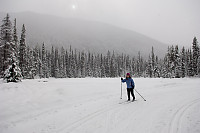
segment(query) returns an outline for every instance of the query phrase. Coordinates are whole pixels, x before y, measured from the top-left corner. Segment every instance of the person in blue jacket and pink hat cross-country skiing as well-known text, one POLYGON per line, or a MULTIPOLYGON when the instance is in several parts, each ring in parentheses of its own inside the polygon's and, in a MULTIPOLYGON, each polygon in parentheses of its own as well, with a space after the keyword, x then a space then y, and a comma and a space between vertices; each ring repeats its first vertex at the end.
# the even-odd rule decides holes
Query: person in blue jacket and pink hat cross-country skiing
POLYGON ((131 95, 133 97, 132 101, 134 101, 135 100, 135 95, 134 95, 134 90, 133 89, 135 88, 135 83, 134 83, 133 79, 131 78, 130 73, 126 74, 126 78, 125 79, 121 78, 121 81, 122 81, 122 83, 126 82, 128 101, 130 101, 130 93, 131 93, 131 95))

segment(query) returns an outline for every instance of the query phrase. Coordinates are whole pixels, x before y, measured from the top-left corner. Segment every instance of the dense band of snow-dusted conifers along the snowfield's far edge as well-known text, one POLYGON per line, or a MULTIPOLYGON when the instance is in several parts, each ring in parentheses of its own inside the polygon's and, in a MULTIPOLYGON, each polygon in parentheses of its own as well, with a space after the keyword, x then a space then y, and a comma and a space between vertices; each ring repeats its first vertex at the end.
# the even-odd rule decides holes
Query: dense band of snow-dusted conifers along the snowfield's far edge
MULTIPOLYGON (((197 38, 191 48, 169 46, 164 58, 155 55, 152 47, 149 57, 140 52, 135 57, 108 51, 107 54, 80 51, 69 47, 51 49, 26 44, 26 28, 22 25, 18 36, 16 19, 9 14, 2 20, 0 34, 0 77, 7 81, 28 78, 84 78, 119 77, 130 72, 134 77, 184 78, 200 76, 200 50, 197 38)), ((163 53, 164 54, 164 53, 163 53)))

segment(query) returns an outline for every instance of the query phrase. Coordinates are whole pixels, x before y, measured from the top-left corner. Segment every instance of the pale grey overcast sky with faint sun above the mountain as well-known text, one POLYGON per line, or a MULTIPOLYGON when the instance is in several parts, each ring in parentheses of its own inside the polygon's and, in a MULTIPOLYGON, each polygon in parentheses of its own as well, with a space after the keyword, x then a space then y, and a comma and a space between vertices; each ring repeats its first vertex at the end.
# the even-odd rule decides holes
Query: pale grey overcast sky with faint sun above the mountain
POLYGON ((167 44, 200 42, 200 0, 0 0, 0 11, 101 21, 167 44))

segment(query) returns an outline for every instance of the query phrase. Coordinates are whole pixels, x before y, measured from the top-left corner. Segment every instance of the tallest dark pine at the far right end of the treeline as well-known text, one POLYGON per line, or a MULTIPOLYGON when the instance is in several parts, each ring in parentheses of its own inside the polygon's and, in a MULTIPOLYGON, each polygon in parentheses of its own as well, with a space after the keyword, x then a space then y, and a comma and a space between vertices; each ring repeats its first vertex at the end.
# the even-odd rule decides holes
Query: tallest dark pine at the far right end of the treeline
POLYGON ((198 74, 197 62, 198 62, 198 57, 199 57, 199 46, 198 46, 198 41, 196 37, 194 37, 193 42, 192 42, 192 50, 193 50, 193 71, 194 71, 194 75, 197 75, 198 74))

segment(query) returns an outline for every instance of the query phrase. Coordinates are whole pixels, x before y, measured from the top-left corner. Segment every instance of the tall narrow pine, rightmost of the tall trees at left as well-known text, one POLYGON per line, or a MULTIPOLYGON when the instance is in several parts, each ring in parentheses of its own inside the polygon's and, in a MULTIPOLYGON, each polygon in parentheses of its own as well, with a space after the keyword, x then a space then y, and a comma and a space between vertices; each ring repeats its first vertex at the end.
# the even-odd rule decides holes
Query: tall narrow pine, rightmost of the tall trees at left
POLYGON ((22 26, 22 33, 20 38, 20 45, 19 45, 19 66, 22 71, 22 75, 24 78, 27 76, 27 66, 26 66, 26 29, 23 24, 22 26))

